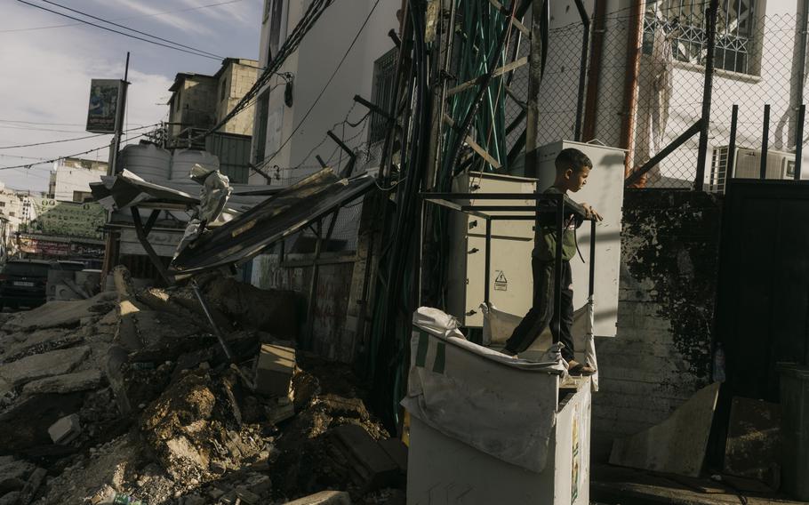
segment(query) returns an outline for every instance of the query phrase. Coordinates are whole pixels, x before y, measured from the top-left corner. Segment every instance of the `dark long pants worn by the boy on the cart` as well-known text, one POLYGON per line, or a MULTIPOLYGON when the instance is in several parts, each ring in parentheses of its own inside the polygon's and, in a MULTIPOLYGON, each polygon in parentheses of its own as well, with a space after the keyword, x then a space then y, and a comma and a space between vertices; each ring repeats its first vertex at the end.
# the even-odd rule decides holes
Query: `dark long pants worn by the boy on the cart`
POLYGON ((542 330, 550 322, 550 331, 554 343, 561 341, 565 344, 562 357, 565 361, 573 359, 573 276, 570 270, 570 261, 562 261, 562 314, 554 314, 553 278, 554 262, 531 259, 533 270, 533 307, 525 314, 523 321, 511 333, 506 342, 506 350, 517 354, 531 347, 533 341, 540 336, 542 330), (557 333, 557 321, 559 331, 557 333))

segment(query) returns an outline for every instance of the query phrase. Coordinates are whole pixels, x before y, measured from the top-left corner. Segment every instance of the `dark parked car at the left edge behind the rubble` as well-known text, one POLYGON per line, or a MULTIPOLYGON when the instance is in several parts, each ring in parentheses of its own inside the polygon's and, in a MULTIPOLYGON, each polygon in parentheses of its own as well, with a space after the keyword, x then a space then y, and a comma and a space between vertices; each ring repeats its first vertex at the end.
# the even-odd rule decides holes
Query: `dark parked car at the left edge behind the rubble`
POLYGON ((7 261, 0 270, 0 309, 42 305, 51 266, 52 261, 7 261))

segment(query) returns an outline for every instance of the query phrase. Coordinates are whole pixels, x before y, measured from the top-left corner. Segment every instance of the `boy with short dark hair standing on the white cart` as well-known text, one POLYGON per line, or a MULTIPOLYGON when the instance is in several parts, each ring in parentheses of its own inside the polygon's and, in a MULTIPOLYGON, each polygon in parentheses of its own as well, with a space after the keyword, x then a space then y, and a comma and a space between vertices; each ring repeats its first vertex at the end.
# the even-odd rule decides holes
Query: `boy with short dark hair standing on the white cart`
POLYGON ((568 191, 575 193, 587 184, 593 163, 579 149, 563 149, 554 162, 557 177, 553 186, 544 191, 545 195, 564 195, 565 198, 565 231, 562 235, 562 304, 561 314, 554 314, 554 259, 557 252, 557 218, 550 213, 540 216, 537 230, 537 242, 534 245, 531 267, 533 269, 533 306, 525 314, 523 321, 514 329, 503 353, 515 356, 531 347, 534 340, 542 333, 550 321, 553 341, 565 344, 562 357, 565 358, 572 374, 594 373, 589 365, 578 363, 573 358, 573 277, 570 260, 576 255, 576 228, 581 225, 582 217, 601 220, 588 204, 576 204, 567 196, 568 191), (557 321, 559 329, 557 331, 557 321))

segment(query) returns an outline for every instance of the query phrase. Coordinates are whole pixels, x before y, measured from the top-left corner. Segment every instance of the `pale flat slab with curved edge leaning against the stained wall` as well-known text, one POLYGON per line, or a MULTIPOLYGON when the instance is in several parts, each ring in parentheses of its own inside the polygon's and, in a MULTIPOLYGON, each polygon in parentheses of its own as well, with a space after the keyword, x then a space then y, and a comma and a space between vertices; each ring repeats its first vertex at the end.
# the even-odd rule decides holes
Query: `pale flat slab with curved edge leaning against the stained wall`
POLYGON ((699 477, 718 394, 715 382, 697 391, 660 424, 615 439, 610 464, 699 477))

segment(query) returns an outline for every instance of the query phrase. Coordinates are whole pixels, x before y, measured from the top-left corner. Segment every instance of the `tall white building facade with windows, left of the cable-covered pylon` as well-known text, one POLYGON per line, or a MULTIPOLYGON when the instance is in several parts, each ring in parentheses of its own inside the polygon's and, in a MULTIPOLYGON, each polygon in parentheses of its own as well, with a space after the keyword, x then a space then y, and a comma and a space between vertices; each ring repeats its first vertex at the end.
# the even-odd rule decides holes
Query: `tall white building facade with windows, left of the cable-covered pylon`
MULTIPOLYGON (((336 144, 326 137, 330 129, 348 148, 367 150, 370 120, 361 119, 368 110, 353 99, 358 94, 372 100, 375 63, 394 48, 388 31, 399 28, 396 11, 401 6, 397 2, 378 4, 348 51, 373 4, 361 0, 326 9, 298 50, 278 69, 283 76, 274 76, 260 90, 252 163, 274 184, 286 186, 316 172, 320 169, 316 156, 331 166, 345 162, 345 153, 335 151, 336 144)), ((301 0, 265 0, 259 67, 267 67, 278 53, 305 7, 301 0)), ((252 178, 260 180, 261 176, 255 173, 252 178)))

